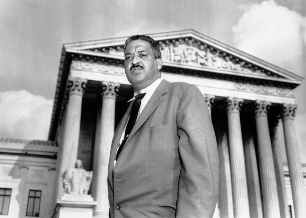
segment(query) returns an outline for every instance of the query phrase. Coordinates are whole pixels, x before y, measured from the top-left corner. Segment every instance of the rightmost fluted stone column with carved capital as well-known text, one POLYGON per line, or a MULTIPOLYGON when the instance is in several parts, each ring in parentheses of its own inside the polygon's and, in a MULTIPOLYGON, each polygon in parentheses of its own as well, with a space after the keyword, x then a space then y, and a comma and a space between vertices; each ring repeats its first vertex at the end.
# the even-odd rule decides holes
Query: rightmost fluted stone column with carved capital
POLYGON ((295 218, 305 218, 306 201, 303 173, 294 118, 296 104, 283 104, 283 125, 295 218))

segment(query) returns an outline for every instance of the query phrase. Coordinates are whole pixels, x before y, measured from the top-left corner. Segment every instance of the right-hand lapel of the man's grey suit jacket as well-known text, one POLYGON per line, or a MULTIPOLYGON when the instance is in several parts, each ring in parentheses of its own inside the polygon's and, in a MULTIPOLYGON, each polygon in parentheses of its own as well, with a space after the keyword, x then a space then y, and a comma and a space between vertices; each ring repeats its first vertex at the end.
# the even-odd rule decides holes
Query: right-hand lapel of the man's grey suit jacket
POLYGON ((129 140, 133 137, 133 135, 137 132, 137 130, 142 126, 142 124, 150 117, 153 111, 157 108, 160 102, 164 99, 163 95, 168 92, 168 84, 169 82, 166 80, 162 80, 160 84, 157 86, 155 92, 153 93, 151 99, 148 101, 147 105, 141 112, 139 118, 136 120, 135 125, 125 142, 125 145, 129 142, 129 140))

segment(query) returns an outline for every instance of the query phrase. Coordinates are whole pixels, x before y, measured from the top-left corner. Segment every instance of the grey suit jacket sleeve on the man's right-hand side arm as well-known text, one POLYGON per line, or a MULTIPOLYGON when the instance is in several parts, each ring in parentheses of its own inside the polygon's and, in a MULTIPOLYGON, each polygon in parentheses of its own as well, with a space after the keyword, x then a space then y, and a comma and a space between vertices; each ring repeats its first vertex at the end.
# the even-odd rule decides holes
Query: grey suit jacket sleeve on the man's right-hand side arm
POLYGON ((176 218, 211 218, 218 198, 219 159, 207 104, 189 86, 177 112, 181 160, 176 218))

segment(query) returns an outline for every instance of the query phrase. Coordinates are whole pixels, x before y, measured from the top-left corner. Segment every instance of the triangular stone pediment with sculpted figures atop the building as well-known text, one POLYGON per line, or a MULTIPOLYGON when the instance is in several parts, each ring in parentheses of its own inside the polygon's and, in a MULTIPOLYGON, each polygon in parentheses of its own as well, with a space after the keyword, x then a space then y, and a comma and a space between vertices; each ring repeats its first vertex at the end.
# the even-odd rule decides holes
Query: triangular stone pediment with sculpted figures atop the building
MULTIPOLYGON (((293 87, 300 84, 302 77, 285 69, 255 58, 229 45, 214 40, 194 30, 183 30, 168 33, 148 34, 158 41, 164 66, 162 71, 182 73, 192 71, 194 75, 229 75, 240 79, 254 78, 291 83, 293 87), (196 73, 194 73, 196 72, 196 73), (206 72, 206 74, 205 74, 206 72), (209 73, 209 74, 208 74, 209 73)), ((127 37, 94 40, 80 43, 64 44, 67 51, 77 54, 124 59, 124 42, 127 37)), ((102 59, 103 60, 103 59, 102 59)), ((240 80, 239 79, 239 80, 240 80)))

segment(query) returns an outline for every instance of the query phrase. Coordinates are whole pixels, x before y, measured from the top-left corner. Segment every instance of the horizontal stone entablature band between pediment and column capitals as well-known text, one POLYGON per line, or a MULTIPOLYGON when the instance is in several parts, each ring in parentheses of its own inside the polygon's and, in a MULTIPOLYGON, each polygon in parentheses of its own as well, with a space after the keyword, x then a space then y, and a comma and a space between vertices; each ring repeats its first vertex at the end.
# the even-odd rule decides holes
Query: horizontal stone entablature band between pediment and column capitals
MULTIPOLYGON (((114 81, 130 85, 124 67, 112 64, 91 63, 74 60, 70 67, 70 76, 92 81, 114 81)), ((219 78, 194 77, 186 74, 161 72, 161 78, 170 82, 182 81, 196 85, 204 94, 218 97, 237 97, 248 100, 267 100, 273 103, 294 103, 290 89, 269 85, 256 85, 219 78)), ((99 89, 99 87, 96 87, 99 89)))

